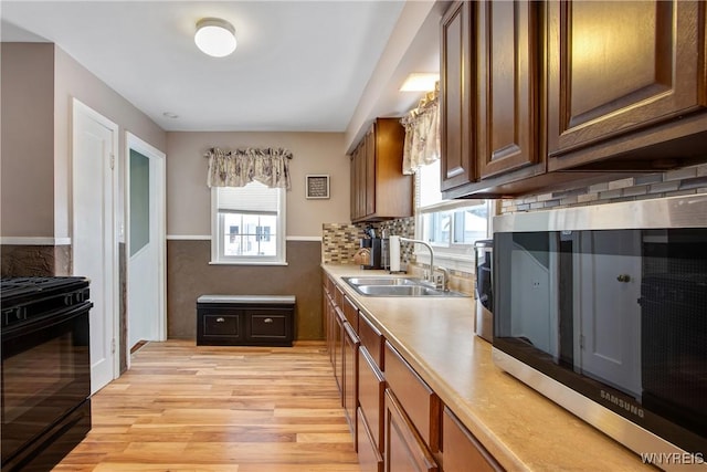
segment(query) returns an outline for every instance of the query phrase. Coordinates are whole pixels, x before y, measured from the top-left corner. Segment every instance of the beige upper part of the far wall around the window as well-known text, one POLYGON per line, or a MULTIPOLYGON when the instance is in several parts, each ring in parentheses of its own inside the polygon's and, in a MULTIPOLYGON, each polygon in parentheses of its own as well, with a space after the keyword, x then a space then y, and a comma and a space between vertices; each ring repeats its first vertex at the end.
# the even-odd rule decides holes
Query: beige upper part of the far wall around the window
POLYGON ((211 147, 284 147, 293 153, 287 237, 321 237, 325 222, 349 221, 349 159, 342 133, 168 133, 167 234, 211 234, 211 191, 203 154, 211 147), (330 199, 307 200, 305 176, 328 174, 330 199))

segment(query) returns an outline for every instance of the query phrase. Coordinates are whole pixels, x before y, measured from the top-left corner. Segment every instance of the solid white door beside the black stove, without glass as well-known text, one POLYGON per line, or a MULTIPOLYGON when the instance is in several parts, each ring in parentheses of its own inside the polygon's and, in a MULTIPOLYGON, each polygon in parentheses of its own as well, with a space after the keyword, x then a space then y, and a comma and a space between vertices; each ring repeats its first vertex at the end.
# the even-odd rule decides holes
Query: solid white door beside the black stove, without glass
POLYGON ((91 391, 118 376, 115 203, 118 127, 74 99, 73 273, 91 279, 91 391))

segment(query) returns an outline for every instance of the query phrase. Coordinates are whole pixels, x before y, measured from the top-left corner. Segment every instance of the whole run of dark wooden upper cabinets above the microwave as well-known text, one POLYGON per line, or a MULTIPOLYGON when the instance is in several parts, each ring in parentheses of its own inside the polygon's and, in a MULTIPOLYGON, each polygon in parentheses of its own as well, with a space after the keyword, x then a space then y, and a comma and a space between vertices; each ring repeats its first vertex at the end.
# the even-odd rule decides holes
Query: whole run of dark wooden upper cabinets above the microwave
POLYGON ((707 2, 454 2, 442 190, 515 197, 707 160, 707 2))

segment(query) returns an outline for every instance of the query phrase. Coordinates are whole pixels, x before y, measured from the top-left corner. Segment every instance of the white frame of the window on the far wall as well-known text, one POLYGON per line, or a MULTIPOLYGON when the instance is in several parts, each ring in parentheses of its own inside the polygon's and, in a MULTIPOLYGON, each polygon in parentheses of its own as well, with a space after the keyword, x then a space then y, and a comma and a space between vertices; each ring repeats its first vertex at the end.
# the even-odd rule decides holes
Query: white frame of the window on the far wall
MULTIPOLYGON (((224 265, 287 265, 286 247, 286 190, 277 190, 277 216, 275 225, 275 255, 226 255, 225 254, 225 232, 224 216, 229 211, 219 211, 219 189, 226 187, 211 187, 211 261, 210 264, 224 265)), ((257 213, 253 213, 257 214, 257 213)), ((262 213, 265 214, 265 213, 262 213)), ((261 234, 262 237, 262 234, 261 234)), ((272 233, 267 234, 273 238, 272 233)))

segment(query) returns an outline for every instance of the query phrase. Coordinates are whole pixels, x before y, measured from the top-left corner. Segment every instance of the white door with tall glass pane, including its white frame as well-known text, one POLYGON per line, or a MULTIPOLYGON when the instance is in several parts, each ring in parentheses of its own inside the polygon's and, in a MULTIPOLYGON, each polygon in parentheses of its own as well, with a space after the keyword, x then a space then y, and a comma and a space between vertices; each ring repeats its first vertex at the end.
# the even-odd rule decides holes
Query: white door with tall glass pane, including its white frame
POLYGON ((166 339, 165 154, 127 135, 128 348, 166 339))

